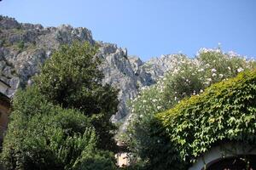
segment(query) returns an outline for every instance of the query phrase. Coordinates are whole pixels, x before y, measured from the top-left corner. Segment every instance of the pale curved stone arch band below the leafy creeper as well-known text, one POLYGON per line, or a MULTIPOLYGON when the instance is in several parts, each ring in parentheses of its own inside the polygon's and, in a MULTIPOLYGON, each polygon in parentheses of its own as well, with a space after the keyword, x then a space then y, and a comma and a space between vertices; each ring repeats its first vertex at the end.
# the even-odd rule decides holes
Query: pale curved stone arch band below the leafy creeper
POLYGON ((240 156, 256 157, 256 146, 242 143, 225 143, 212 147, 205 154, 199 157, 189 170, 212 169, 216 163, 230 161, 240 156))

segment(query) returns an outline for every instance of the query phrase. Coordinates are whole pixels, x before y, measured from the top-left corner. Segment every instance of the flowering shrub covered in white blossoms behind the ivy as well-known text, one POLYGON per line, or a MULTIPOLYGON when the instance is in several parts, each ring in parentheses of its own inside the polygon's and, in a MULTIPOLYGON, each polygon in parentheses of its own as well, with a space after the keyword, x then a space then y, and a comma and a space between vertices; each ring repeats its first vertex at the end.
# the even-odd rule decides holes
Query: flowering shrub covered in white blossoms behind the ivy
POLYGON ((130 121, 126 134, 121 137, 135 155, 147 162, 148 156, 154 154, 150 150, 157 141, 148 135, 156 113, 171 109, 185 97, 201 94, 214 82, 236 77, 239 72, 255 67, 254 61, 233 52, 225 54, 220 48, 202 48, 195 59, 179 54, 172 61, 173 66, 165 77, 154 86, 143 88, 131 100, 130 121))

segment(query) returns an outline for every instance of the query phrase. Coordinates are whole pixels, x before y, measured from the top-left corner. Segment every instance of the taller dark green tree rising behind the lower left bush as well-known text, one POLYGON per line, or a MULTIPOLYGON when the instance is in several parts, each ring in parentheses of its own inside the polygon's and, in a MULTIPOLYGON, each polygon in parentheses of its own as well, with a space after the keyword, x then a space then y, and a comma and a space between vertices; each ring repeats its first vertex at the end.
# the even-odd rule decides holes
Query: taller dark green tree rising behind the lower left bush
POLYGON ((102 85, 101 60, 96 52, 89 42, 63 45, 45 62, 34 82, 47 100, 90 116, 99 135, 99 147, 113 150, 115 127, 109 120, 117 111, 118 91, 102 85))

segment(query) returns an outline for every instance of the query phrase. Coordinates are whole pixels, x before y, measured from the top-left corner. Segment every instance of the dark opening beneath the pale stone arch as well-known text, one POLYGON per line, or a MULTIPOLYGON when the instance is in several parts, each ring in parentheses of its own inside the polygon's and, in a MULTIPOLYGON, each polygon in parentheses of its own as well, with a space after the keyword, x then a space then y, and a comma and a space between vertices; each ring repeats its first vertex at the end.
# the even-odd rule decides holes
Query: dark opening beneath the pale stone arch
POLYGON ((256 170, 256 155, 231 156, 210 162, 207 170, 256 170))

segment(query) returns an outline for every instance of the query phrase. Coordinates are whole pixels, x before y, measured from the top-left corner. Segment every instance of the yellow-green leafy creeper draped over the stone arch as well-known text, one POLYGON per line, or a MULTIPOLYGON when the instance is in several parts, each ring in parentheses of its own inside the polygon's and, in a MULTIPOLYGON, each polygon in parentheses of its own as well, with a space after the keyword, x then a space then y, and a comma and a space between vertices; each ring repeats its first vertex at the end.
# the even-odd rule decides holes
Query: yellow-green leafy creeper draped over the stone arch
POLYGON ((158 152, 151 158, 157 157, 168 169, 184 169, 213 144, 256 144, 255 102, 256 71, 242 72, 199 96, 183 99, 171 110, 156 115, 151 133, 158 138, 158 152))

